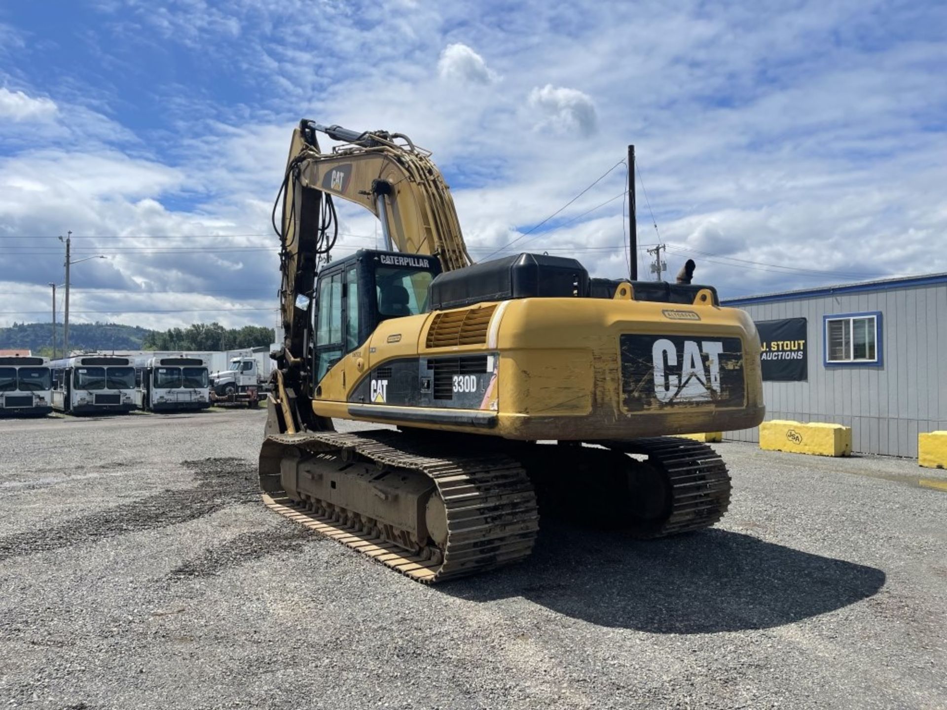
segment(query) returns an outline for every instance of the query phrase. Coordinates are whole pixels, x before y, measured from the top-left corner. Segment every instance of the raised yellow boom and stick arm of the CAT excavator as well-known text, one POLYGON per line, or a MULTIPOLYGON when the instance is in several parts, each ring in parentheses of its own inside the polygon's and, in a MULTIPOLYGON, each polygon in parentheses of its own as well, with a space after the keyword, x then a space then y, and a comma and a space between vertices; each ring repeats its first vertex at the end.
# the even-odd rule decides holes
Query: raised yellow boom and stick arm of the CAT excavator
MULTIPOLYGON (((405 255, 438 257, 443 271, 472 263, 450 188, 430 153, 402 133, 358 133, 303 120, 293 132, 277 204, 274 227, 280 238, 282 285, 280 311, 284 331, 277 382, 282 416, 297 429, 296 394, 310 395, 305 370, 311 362, 312 308, 320 263, 330 260, 338 236, 332 198, 360 204, 382 224, 384 248, 405 255), (329 152, 317 134, 341 141, 329 152), (282 216, 276 223, 279 198, 282 216), (287 389, 286 396, 282 390, 287 389)), ((315 426, 317 422, 308 422, 315 426)))

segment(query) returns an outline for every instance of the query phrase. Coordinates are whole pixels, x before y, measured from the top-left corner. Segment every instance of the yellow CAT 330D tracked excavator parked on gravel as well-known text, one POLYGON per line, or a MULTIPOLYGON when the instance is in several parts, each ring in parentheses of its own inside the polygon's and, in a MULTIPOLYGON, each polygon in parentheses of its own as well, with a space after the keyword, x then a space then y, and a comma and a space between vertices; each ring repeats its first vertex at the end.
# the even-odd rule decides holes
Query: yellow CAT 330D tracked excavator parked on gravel
POLYGON ((266 506, 421 582, 525 559, 541 506, 639 538, 724 515, 723 460, 675 435, 753 427, 764 407, 756 328, 713 288, 545 254, 473 263, 430 153, 401 133, 301 121, 273 217, 266 506), (384 249, 331 260, 333 198, 373 213, 384 249))

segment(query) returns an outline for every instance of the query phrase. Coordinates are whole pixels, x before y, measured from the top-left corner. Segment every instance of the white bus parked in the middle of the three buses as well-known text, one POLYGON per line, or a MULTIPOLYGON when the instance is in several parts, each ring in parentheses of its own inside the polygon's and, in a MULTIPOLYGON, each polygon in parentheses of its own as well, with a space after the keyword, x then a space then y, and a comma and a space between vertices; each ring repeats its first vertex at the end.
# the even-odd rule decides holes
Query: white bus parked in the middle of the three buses
POLYGON ((131 412, 134 366, 129 358, 78 355, 54 360, 53 409, 71 414, 131 412))

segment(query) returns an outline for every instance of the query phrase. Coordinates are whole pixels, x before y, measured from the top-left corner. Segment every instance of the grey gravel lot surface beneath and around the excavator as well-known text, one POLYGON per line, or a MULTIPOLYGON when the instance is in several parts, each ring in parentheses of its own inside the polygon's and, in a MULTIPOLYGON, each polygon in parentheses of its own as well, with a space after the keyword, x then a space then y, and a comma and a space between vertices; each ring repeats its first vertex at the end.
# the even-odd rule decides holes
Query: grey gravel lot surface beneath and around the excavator
POLYGON ((264 416, 0 421, 0 707, 947 707, 942 471, 724 443, 717 528, 425 587, 259 504, 264 416))

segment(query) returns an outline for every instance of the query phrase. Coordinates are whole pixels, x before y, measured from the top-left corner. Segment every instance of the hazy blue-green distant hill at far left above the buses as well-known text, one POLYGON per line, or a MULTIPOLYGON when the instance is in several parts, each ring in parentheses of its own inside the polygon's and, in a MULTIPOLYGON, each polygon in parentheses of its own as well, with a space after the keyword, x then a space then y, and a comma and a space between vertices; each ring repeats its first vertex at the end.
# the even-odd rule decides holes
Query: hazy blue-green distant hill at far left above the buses
MULTIPOLYGON (((69 348, 73 350, 140 350, 142 341, 151 332, 148 328, 121 326, 117 323, 70 323, 69 348)), ((0 328, 0 348, 27 347, 34 354, 52 345, 49 323, 14 323, 0 328)), ((56 348, 63 347, 63 325, 56 324, 56 348)), ((43 354, 48 355, 48 352, 43 354)))

